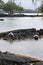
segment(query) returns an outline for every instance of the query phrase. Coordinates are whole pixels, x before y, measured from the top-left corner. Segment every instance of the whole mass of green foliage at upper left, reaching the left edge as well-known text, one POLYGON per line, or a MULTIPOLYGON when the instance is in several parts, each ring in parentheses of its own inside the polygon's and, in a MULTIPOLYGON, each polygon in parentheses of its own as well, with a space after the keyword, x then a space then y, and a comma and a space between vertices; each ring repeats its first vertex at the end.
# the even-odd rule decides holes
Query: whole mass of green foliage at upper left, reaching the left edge
POLYGON ((6 12, 8 12, 10 14, 14 13, 14 11, 21 12, 24 10, 23 7, 17 5, 13 1, 8 1, 7 3, 1 2, 0 7, 3 8, 3 10, 5 10, 6 12))

